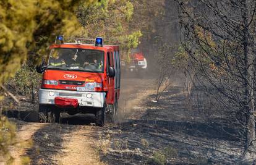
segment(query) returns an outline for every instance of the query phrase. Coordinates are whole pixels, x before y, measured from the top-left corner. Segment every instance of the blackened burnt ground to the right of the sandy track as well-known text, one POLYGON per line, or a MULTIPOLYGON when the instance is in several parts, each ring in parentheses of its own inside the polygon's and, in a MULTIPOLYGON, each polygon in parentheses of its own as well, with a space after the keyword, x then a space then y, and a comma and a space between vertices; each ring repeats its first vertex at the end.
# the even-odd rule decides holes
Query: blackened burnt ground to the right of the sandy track
MULTIPOLYGON (((252 164, 241 158, 239 140, 232 125, 217 119, 204 121, 196 101, 186 107, 182 87, 171 87, 158 103, 154 95, 134 105, 137 119, 103 133, 109 142, 101 159, 108 164, 252 164), (139 107, 138 107, 139 106, 139 107), (141 109, 141 111, 140 111, 141 109), (143 114, 141 114, 143 113, 143 114), (221 131, 222 130, 222 131, 221 131)), ((134 118, 134 117, 133 117, 134 118)))

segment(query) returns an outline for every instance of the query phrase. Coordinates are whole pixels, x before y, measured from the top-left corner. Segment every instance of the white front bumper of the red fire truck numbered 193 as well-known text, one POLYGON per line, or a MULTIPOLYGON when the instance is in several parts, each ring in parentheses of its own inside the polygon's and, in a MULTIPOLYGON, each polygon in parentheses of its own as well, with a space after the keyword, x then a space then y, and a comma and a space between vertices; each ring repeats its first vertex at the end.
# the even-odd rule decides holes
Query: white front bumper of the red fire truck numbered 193
POLYGON ((68 91, 68 90, 39 90, 40 104, 54 104, 55 97, 72 98, 79 101, 79 106, 90 106, 103 108, 105 92, 86 92, 86 91, 68 91), (90 98, 92 96, 92 98, 90 98))

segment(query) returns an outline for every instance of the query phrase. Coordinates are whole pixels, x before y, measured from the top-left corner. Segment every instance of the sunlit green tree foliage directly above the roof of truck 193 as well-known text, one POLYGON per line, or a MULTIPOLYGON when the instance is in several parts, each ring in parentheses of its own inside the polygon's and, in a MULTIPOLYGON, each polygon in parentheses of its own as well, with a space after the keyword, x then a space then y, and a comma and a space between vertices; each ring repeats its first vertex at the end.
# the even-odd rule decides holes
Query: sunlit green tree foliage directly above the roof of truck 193
POLYGON ((102 36, 106 44, 119 44, 124 54, 136 48, 142 32, 130 30, 129 23, 134 14, 131 1, 103 0, 90 7, 80 6, 77 17, 84 30, 80 35, 95 38, 102 36), (126 53, 125 53, 126 52, 126 53))

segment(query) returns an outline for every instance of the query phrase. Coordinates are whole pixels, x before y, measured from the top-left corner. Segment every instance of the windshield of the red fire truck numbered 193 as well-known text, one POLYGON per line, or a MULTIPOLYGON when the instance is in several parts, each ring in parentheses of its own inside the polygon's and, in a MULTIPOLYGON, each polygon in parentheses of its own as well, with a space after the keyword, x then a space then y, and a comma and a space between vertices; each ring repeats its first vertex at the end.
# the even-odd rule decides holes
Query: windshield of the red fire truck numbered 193
POLYGON ((92 49, 52 49, 47 69, 103 72, 104 51, 92 49))

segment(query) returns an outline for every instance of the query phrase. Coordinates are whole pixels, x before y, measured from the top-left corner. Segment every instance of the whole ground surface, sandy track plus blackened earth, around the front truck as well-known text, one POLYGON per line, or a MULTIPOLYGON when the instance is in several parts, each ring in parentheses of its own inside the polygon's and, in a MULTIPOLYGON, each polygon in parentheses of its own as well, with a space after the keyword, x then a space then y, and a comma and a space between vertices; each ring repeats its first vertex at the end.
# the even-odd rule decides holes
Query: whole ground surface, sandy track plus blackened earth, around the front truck
POLYGON ((28 103, 6 111, 20 141, 33 141, 12 148, 15 164, 23 156, 31 164, 252 164, 241 159, 240 142, 228 134, 236 133, 232 125, 205 121, 197 101, 186 106, 179 86, 153 102, 153 83, 123 79, 119 123, 106 127, 96 127, 94 116, 82 114, 64 114, 61 124, 33 122, 36 106, 28 103))

